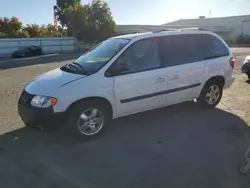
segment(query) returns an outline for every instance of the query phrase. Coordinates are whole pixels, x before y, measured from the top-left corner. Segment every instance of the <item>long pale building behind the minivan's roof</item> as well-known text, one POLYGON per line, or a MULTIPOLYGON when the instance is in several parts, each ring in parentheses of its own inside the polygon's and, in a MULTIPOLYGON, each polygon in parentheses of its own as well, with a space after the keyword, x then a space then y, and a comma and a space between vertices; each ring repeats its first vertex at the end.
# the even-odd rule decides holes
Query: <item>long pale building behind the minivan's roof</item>
POLYGON ((219 34, 228 43, 237 43, 241 36, 250 40, 250 15, 218 18, 180 19, 163 25, 118 25, 117 33, 133 33, 155 31, 162 28, 179 29, 199 27, 219 34))

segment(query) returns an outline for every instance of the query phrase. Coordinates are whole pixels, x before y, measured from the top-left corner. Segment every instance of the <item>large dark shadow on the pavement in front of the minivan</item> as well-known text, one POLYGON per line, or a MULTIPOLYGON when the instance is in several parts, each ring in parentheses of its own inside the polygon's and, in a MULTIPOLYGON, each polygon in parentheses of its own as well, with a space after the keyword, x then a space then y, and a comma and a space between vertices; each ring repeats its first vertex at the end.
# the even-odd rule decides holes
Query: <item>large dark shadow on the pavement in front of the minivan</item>
POLYGON ((117 119, 80 142, 61 130, 22 128, 1 136, 3 187, 248 187, 238 173, 246 122, 193 102, 117 119), (13 181, 15 179, 15 181, 13 181))

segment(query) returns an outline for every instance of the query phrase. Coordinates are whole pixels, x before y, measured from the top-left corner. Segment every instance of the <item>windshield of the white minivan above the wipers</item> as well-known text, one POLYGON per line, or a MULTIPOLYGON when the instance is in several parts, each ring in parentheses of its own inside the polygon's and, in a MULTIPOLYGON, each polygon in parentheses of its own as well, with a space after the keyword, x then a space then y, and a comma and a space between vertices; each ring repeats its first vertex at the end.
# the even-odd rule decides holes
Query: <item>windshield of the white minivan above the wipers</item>
POLYGON ((74 63, 80 65, 87 73, 97 72, 125 47, 129 41, 129 39, 125 38, 105 40, 83 54, 74 63))

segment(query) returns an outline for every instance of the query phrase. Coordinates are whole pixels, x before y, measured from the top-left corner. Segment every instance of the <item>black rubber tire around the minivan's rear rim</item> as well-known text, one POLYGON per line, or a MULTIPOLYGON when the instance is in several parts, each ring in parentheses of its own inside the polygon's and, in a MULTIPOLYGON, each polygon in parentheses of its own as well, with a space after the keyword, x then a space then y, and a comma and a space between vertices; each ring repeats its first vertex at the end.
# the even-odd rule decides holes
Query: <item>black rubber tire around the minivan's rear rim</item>
POLYGON ((214 108, 215 106, 217 106, 221 100, 223 94, 223 85, 217 81, 217 80, 211 80, 208 81, 203 89, 201 90, 200 96, 197 99, 197 103, 199 104, 199 106, 203 109, 210 109, 210 108, 214 108), (216 95, 216 100, 214 100, 212 103, 208 102, 208 98, 207 98, 207 94, 209 93, 209 90, 211 89, 211 87, 217 87, 219 89, 219 93, 218 95, 216 95))

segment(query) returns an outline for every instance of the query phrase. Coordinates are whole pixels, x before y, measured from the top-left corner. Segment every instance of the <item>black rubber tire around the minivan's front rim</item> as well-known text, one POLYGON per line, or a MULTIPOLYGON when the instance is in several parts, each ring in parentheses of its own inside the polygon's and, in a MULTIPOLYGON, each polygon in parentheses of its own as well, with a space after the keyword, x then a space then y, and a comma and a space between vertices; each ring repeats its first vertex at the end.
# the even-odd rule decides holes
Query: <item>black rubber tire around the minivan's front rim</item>
POLYGON ((100 137, 105 128, 107 127, 107 124, 111 120, 111 113, 105 105, 104 102, 99 101, 99 100, 87 100, 87 101, 81 101, 77 104, 75 104, 68 112, 69 114, 69 119, 68 119, 68 128, 73 131, 75 135, 81 140, 92 140, 95 138, 100 137), (96 132, 95 134, 92 135, 87 135, 84 134, 83 132, 80 131, 80 128, 78 126, 78 121, 79 117, 83 112, 85 112, 88 109, 98 109, 102 115, 104 116, 104 123, 101 126, 100 130, 96 132))

